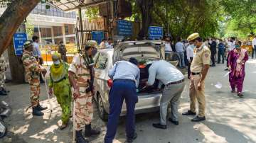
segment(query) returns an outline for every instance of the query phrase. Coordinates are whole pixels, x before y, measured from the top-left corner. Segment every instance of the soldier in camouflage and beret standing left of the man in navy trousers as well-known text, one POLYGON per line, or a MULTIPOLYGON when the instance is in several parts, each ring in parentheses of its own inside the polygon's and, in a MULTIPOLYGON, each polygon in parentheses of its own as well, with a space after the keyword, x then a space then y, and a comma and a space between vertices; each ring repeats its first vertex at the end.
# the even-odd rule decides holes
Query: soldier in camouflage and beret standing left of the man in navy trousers
POLYGON ((75 108, 75 142, 85 143, 87 139, 82 137, 82 129, 85 127, 85 137, 99 135, 99 130, 92 130, 91 122, 93 115, 92 95, 94 94, 93 60, 92 52, 97 42, 87 42, 85 51, 75 55, 68 69, 70 84, 73 86, 73 98, 75 108))

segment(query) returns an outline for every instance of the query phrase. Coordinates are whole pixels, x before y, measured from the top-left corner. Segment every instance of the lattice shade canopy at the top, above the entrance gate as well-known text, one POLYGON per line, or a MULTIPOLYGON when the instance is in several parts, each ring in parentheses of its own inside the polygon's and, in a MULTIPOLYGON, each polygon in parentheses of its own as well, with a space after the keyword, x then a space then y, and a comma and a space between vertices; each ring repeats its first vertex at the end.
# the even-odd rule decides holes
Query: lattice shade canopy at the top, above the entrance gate
POLYGON ((53 3, 54 6, 63 11, 72 11, 77 8, 86 8, 97 4, 105 3, 107 0, 60 0, 53 3))

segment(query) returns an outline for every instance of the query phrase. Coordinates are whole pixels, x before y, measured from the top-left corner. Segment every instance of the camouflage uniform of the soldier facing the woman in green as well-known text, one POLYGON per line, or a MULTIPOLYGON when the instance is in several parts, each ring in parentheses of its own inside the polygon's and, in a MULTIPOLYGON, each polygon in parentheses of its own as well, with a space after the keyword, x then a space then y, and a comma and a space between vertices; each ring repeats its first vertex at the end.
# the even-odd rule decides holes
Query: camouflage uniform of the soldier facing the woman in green
POLYGON ((31 106, 35 108, 39 103, 40 67, 32 52, 23 51, 22 62, 26 71, 26 79, 31 86, 31 106))

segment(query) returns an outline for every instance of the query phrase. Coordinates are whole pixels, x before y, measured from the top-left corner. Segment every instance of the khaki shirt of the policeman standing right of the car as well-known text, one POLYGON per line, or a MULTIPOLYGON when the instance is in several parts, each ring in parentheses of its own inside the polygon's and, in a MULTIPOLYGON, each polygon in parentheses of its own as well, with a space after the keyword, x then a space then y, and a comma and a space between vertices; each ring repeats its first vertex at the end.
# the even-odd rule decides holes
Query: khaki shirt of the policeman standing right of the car
POLYGON ((196 48, 195 56, 191 63, 191 72, 201 72, 204 64, 210 64, 210 50, 206 45, 201 45, 201 47, 196 48))

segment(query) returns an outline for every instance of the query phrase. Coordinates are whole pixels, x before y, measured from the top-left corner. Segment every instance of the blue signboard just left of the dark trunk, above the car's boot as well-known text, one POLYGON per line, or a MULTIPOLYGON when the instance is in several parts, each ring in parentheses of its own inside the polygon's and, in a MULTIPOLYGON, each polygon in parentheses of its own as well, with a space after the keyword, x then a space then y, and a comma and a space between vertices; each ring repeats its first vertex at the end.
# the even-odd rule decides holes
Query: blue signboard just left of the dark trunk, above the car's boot
POLYGON ((118 20, 117 21, 117 35, 122 35, 122 36, 132 35, 132 22, 118 20))

